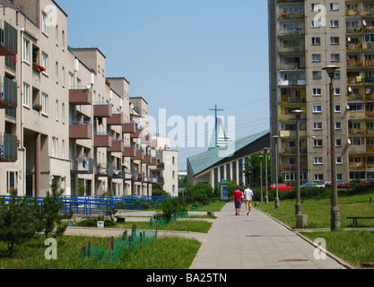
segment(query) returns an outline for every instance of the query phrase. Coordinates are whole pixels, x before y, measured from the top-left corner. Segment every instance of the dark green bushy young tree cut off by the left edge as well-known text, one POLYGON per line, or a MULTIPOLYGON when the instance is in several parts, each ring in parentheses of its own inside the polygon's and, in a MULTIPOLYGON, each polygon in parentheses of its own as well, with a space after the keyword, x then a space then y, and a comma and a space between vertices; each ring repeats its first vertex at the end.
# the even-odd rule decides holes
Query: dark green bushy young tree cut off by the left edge
POLYGON ((9 201, 0 198, 0 240, 7 243, 9 256, 13 257, 14 244, 35 236, 39 206, 35 199, 18 197, 16 189, 10 191, 10 196, 9 201))

